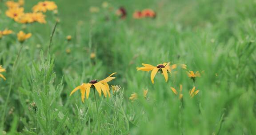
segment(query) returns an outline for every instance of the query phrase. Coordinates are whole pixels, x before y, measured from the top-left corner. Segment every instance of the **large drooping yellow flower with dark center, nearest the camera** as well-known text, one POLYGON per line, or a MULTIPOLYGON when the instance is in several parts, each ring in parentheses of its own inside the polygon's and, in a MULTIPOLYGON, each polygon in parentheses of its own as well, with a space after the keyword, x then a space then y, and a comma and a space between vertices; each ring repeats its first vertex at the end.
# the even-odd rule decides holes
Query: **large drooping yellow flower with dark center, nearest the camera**
POLYGON ((99 93, 100 96, 101 96, 101 91, 103 91, 103 94, 105 97, 107 97, 107 93, 108 93, 108 97, 110 97, 108 82, 111 81, 112 79, 116 78, 116 77, 111 77, 114 74, 116 74, 116 73, 112 73, 106 79, 103 79, 99 82, 97 80, 91 80, 89 83, 83 83, 82 85, 73 89, 73 91, 70 93, 70 95, 72 95, 74 92, 76 92, 77 90, 80 89, 81 90, 81 99, 84 102, 85 92, 86 92, 86 99, 88 99, 89 94, 90 94, 90 88, 92 86, 92 87, 96 88, 96 91, 99 93))

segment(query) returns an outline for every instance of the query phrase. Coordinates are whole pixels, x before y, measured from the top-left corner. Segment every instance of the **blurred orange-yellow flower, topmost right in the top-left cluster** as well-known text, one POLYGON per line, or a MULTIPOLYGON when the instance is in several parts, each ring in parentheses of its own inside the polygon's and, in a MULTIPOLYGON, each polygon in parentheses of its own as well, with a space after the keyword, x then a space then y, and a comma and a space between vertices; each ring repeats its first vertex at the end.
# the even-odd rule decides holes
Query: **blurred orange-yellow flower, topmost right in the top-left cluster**
POLYGON ((33 12, 46 12, 47 10, 52 11, 57 9, 57 5, 53 1, 41 1, 36 4, 32 10, 33 12))

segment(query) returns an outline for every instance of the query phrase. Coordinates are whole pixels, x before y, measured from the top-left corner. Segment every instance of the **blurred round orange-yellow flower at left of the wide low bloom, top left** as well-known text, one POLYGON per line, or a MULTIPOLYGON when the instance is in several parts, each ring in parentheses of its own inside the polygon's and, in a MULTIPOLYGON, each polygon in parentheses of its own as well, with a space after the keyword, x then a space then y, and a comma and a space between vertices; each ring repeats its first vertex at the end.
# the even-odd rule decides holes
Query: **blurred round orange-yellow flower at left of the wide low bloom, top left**
POLYGON ((5 12, 6 16, 18 21, 24 15, 24 8, 10 8, 5 12))

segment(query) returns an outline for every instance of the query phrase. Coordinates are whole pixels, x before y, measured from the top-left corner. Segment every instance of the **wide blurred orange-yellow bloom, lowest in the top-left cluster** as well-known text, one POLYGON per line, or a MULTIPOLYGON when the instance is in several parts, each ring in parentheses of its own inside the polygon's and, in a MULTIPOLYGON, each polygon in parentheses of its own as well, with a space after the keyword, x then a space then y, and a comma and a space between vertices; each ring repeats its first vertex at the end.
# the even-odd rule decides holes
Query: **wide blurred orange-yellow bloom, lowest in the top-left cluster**
POLYGON ((45 15, 41 12, 33 12, 33 13, 25 13, 23 16, 20 17, 18 21, 22 24, 39 22, 40 24, 45 24, 45 15))

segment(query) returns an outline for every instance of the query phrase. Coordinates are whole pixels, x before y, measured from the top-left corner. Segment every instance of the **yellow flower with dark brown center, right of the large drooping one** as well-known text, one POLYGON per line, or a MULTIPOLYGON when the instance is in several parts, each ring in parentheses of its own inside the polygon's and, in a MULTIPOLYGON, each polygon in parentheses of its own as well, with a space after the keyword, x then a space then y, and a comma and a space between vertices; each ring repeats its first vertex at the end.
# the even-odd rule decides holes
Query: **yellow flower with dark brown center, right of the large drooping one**
POLYGON ((156 73, 158 70, 160 70, 161 72, 163 72, 164 75, 164 79, 165 82, 168 81, 168 72, 169 71, 171 73, 172 69, 175 69, 177 67, 176 64, 173 64, 172 66, 169 65, 170 63, 163 63, 163 64, 158 64, 156 67, 152 66, 150 64, 142 64, 144 67, 137 67, 137 70, 141 70, 141 71, 152 71, 151 72, 151 81, 154 84, 154 78, 156 76, 156 73))

